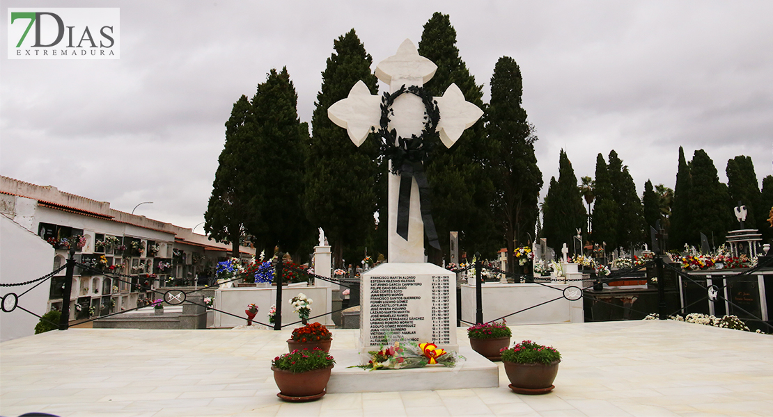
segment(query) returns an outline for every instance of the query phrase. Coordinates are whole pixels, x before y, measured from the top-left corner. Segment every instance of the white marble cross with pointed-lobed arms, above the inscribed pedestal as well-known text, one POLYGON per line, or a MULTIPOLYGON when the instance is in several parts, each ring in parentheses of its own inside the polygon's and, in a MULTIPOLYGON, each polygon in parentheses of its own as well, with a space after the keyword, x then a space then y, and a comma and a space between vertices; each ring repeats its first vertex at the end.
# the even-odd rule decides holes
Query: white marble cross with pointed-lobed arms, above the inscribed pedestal
MULTIPOLYGON (((390 86, 390 93, 410 86, 421 87, 434 76, 438 66, 419 55, 416 46, 406 39, 397 49, 397 54, 379 62, 376 77, 390 86)), ((483 111, 465 100, 461 90, 451 84, 443 96, 433 97, 440 112, 438 126, 435 128, 441 141, 451 147, 461 133, 475 124, 483 111)), ((349 133, 356 146, 365 142, 368 133, 380 128, 382 117, 382 98, 370 94, 364 82, 358 81, 349 91, 349 96, 333 104, 328 116, 338 126, 349 133)), ((395 129, 397 136, 410 138, 421 136, 428 117, 427 105, 415 94, 401 94, 394 98, 389 113, 388 130, 395 129)), ((391 161, 390 161, 391 166, 391 161)), ((398 234, 398 202, 400 201, 400 175, 389 173, 389 216, 388 242, 389 261, 415 263, 424 262, 424 220, 421 214, 421 196, 419 184, 414 177, 410 183, 410 208, 407 219, 407 239, 398 234)), ((404 189, 408 191, 408 189, 404 189)), ((407 193, 405 194, 407 195, 407 193)), ((405 201, 401 201, 405 203, 405 201)), ((431 219, 431 217, 430 217, 431 219)), ((434 227, 433 227, 434 228, 434 227)))

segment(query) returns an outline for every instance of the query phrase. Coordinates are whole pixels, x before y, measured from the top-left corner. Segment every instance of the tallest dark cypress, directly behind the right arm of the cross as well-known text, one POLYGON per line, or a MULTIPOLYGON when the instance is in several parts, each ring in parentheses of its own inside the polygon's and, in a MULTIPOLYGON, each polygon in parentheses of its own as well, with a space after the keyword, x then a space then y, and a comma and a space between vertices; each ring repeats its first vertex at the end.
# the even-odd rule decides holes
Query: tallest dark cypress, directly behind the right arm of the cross
MULTIPOLYGON (((442 96, 445 89, 455 83, 468 102, 480 108, 482 86, 459 56, 456 47, 456 30, 448 15, 434 13, 424 24, 420 55, 438 66, 432 79, 424 86, 433 96, 442 96)), ((490 163, 491 146, 486 145, 483 123, 466 129, 451 149, 440 140, 431 143, 432 150, 425 166, 431 187, 432 216, 442 251, 425 244, 431 262, 440 263, 448 254, 448 232, 460 232, 459 245, 468 252, 480 251, 492 255, 502 244, 502 237, 495 237, 492 216, 493 181, 483 170, 490 163), (493 237, 493 238, 492 238, 493 237)))

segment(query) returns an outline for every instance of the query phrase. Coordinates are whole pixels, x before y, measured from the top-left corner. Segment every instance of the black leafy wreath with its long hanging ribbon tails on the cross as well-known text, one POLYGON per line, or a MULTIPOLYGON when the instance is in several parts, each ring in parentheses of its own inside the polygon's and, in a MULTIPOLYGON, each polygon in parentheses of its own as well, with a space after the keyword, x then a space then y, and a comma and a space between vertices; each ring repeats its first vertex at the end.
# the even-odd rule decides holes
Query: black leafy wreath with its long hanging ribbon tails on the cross
POLYGON ((408 240, 408 219, 410 218, 410 187, 416 180, 419 187, 419 203, 421 207, 421 220, 424 222, 424 233, 431 247, 440 250, 438 231, 435 230, 432 220, 432 205, 430 202, 430 184, 427 174, 424 173, 424 163, 427 162, 427 154, 431 149, 432 137, 438 136, 438 122, 440 121, 440 109, 438 102, 423 88, 419 86, 403 85, 392 94, 384 92, 381 98, 381 119, 378 134, 381 137, 381 154, 392 163, 391 172, 400 176, 400 189, 397 197, 397 234, 408 240), (394 116, 392 104, 394 100, 405 92, 417 96, 424 103, 424 129, 420 136, 411 135, 410 138, 397 136, 395 129, 389 129, 390 115, 394 116))

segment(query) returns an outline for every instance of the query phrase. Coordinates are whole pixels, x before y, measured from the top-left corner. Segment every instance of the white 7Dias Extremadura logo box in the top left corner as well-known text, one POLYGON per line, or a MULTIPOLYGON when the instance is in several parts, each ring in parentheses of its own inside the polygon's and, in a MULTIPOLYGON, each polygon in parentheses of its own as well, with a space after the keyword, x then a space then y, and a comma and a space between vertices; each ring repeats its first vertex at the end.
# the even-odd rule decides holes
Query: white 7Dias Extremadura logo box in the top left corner
POLYGON ((119 59, 119 8, 9 8, 9 59, 119 59))

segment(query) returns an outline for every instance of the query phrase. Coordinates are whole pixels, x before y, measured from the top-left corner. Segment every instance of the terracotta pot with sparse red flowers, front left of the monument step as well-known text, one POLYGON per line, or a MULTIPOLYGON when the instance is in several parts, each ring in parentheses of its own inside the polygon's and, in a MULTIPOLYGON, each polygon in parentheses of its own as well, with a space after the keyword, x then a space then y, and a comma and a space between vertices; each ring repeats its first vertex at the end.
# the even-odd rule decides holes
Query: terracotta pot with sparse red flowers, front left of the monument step
POLYGON ((280 399, 314 401, 325 395, 335 359, 320 348, 294 350, 271 361, 280 399))

